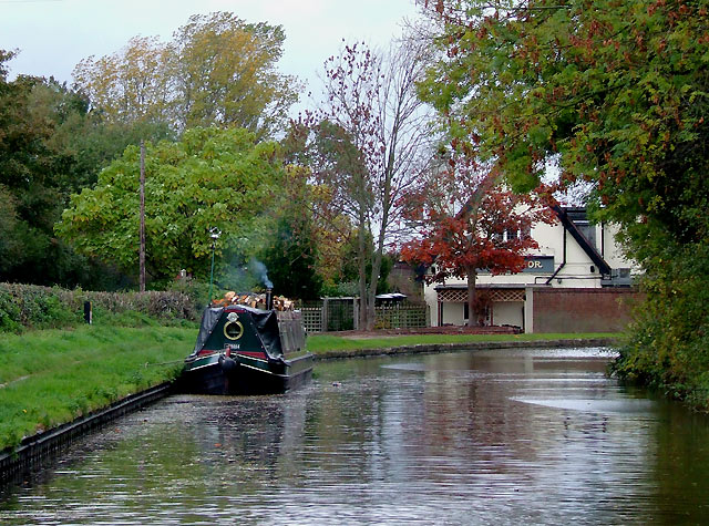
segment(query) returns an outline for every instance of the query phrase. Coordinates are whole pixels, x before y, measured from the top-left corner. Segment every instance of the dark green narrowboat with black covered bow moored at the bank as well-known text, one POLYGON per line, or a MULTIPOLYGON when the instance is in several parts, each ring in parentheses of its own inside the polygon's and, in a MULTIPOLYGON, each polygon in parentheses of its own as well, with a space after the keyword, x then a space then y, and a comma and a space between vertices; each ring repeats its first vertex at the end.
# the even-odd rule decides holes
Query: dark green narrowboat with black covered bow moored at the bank
MULTIPOLYGON (((270 307, 270 306, 269 306, 270 307)), ((207 307, 178 389, 205 394, 281 393, 312 377, 297 310, 207 307)))

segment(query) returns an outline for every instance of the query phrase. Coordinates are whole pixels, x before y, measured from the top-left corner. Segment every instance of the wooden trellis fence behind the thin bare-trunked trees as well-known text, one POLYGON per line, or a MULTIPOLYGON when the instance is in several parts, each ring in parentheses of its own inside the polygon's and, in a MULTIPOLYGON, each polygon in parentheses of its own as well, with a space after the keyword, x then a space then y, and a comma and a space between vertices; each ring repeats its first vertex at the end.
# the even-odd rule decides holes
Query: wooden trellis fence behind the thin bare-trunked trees
MULTIPOLYGON (((300 306, 308 332, 358 329, 358 298, 325 298, 300 306)), ((428 307, 409 302, 391 302, 376 308, 376 329, 412 329, 427 327, 428 307)))

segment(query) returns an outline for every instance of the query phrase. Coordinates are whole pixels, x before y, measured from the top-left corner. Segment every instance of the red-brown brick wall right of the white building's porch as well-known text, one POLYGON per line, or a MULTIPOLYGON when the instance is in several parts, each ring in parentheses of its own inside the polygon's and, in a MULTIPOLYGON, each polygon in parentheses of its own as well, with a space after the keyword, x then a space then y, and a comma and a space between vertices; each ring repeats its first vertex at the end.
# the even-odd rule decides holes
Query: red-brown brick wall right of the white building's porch
POLYGON ((630 321, 635 289, 534 289, 534 332, 618 332, 630 321))

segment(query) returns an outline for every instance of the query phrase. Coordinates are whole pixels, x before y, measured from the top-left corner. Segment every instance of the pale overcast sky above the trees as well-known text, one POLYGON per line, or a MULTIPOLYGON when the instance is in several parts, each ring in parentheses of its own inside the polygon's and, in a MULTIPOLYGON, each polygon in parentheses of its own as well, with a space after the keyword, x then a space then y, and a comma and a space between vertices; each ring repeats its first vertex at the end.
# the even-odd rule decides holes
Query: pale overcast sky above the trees
POLYGON ((90 55, 111 54, 136 35, 162 41, 192 14, 230 11, 247 22, 286 31, 279 69, 317 94, 317 72, 342 39, 388 45, 414 19, 413 0, 0 0, 0 49, 19 49, 7 63, 18 74, 54 76, 71 84, 74 66, 90 55))

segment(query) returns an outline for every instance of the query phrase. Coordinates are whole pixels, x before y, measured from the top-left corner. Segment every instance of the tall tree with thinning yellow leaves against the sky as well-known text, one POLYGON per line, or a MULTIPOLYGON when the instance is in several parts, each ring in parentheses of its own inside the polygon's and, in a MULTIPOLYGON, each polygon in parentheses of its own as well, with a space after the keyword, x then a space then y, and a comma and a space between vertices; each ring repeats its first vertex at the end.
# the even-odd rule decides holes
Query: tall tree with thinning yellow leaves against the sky
POLYGON ((168 43, 136 37, 116 53, 83 60, 74 81, 112 123, 237 126, 269 136, 298 99, 296 79, 276 70, 284 41, 280 25, 195 14, 168 43))

